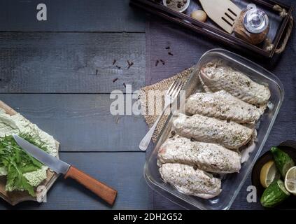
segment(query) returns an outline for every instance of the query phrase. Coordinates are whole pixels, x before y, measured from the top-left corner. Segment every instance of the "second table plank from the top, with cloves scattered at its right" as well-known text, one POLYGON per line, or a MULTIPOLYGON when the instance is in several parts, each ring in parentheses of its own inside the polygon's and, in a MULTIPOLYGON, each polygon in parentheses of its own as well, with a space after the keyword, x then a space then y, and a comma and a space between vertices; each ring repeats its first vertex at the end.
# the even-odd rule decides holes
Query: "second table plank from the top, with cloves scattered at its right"
POLYGON ((136 90, 145 46, 145 34, 0 33, 0 92, 109 93, 125 91, 123 83, 136 90))

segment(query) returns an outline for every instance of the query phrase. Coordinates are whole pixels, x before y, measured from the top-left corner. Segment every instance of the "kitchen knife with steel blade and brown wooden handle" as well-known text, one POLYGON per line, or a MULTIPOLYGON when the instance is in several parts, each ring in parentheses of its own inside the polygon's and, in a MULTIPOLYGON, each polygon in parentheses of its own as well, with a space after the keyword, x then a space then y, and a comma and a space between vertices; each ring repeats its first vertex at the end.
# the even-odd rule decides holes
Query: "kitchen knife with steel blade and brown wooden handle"
POLYGON ((28 141, 18 137, 16 134, 13 134, 13 138, 17 142, 17 144, 24 149, 29 155, 36 158, 36 160, 43 163, 43 165, 50 167, 54 172, 60 174, 64 174, 64 178, 71 178, 78 183, 85 186, 85 188, 91 190, 94 194, 101 197, 102 200, 107 202, 108 204, 113 205, 117 191, 113 190, 109 186, 106 186, 104 183, 93 179, 91 176, 88 176, 84 172, 80 171, 79 169, 67 164, 66 162, 55 158, 54 156, 45 153, 45 151, 41 150, 40 148, 30 144, 28 141))

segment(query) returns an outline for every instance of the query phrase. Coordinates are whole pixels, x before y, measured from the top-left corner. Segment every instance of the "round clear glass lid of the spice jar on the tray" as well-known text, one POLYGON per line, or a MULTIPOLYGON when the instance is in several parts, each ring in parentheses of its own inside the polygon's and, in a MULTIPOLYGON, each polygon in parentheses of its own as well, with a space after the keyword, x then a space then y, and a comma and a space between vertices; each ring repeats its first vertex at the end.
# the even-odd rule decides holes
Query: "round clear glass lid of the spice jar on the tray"
POLYGON ((243 21, 245 29, 252 34, 260 34, 269 26, 267 14, 258 9, 255 4, 248 4, 243 21))

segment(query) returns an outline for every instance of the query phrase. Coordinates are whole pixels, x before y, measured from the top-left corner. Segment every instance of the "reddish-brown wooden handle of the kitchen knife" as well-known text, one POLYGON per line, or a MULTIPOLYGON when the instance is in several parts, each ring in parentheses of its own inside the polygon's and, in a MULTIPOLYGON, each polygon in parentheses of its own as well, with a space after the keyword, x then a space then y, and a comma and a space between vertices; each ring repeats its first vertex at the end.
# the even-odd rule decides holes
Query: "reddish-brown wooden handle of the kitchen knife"
POLYGON ((69 168, 68 172, 64 176, 64 179, 67 179, 69 177, 85 186, 85 188, 91 190, 108 204, 113 205, 117 195, 117 191, 113 188, 110 188, 109 186, 106 186, 106 184, 93 179, 91 176, 88 176, 87 174, 73 166, 69 168))

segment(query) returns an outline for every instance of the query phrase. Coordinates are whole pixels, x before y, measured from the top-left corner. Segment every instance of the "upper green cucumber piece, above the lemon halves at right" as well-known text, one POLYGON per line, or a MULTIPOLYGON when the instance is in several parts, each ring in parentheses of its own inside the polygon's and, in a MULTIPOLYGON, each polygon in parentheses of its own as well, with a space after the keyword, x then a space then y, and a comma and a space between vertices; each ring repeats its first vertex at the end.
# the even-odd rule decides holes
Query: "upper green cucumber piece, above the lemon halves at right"
POLYGON ((287 153, 281 151, 281 149, 279 149, 276 146, 273 146, 270 149, 270 151, 272 151, 272 155, 274 156, 274 162, 276 163, 276 168, 279 169, 281 176, 283 177, 283 179, 285 179, 286 172, 288 172, 288 170, 291 167, 295 166, 293 159, 290 158, 290 156, 287 153))

